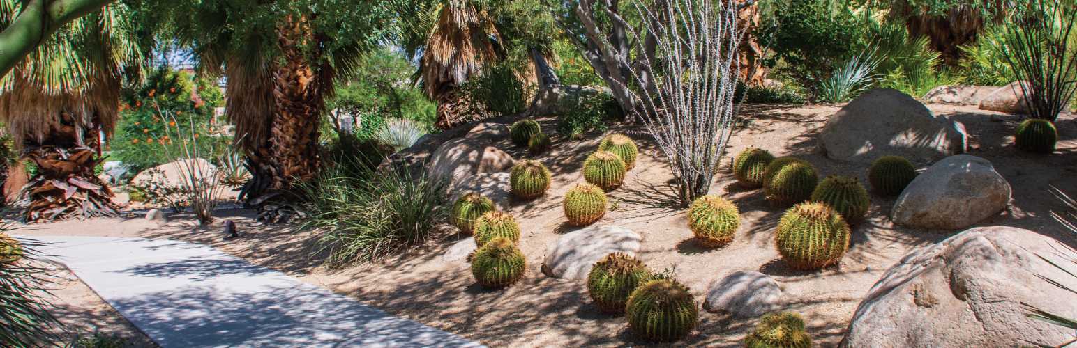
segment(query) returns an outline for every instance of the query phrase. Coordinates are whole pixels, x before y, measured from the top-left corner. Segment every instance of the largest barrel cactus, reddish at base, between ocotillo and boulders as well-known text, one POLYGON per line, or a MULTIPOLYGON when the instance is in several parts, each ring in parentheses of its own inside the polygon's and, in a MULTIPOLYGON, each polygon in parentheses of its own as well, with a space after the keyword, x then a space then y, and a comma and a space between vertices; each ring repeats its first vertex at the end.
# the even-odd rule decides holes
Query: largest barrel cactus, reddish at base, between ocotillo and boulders
POLYGON ((800 203, 778 222, 778 252, 794 270, 820 270, 837 264, 849 248, 849 224, 830 206, 800 203))

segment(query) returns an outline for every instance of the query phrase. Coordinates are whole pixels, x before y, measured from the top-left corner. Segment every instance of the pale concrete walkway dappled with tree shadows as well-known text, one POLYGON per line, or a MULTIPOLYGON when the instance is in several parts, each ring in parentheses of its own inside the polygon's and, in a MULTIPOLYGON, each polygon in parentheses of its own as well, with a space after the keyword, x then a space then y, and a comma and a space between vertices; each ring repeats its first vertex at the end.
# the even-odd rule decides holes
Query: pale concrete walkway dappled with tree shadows
POLYGON ((479 347, 213 247, 28 236, 162 347, 479 347))

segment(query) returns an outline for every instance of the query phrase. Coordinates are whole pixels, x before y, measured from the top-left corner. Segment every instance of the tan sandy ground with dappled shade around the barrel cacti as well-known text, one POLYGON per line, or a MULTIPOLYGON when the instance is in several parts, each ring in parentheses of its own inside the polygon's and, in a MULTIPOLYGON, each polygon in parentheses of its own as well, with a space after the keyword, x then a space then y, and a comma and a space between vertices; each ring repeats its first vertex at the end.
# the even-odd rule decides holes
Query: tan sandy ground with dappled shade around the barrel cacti
MULTIPOLYGON (((984 113, 975 107, 932 105, 931 108, 962 121, 969 133, 969 154, 990 160, 1013 188, 1010 207, 978 226, 1025 228, 1077 247, 1077 238, 1050 218, 1050 211, 1059 206, 1047 192, 1052 185, 1063 191, 1077 192, 1074 179, 1077 174, 1077 120, 1073 116, 1058 122, 1061 139, 1058 150, 1040 156, 1013 148, 1011 134, 1018 122, 1012 116, 984 113)), ((728 153, 737 154, 749 146, 761 147, 777 156, 796 155, 807 159, 819 168, 821 176, 855 175, 866 182, 866 165, 833 161, 817 151, 817 134, 827 117, 837 110, 837 106, 825 105, 745 106, 742 114, 750 121, 732 139, 728 153)), ((555 127, 553 118, 541 121, 545 129, 555 127)), ((447 132, 443 136, 459 133, 447 132)), ((894 200, 872 197, 871 211, 867 219, 854 228, 851 248, 840 265, 811 273, 788 270, 772 242, 782 209, 765 202, 759 190, 745 191, 735 185, 727 170, 727 157, 712 193, 740 207, 742 226, 730 245, 702 249, 691 242, 684 212, 673 204, 674 198, 668 188, 672 176, 660 153, 643 136, 631 136, 641 144, 642 156, 628 174, 626 185, 610 194, 616 209, 598 223, 619 224, 640 232, 644 241, 639 257, 654 270, 674 270, 700 303, 709 285, 730 272, 752 270, 773 276, 785 291, 784 308, 806 317, 809 332, 821 346, 838 343, 859 300, 890 265, 908 251, 954 233, 896 227, 886 218, 894 200)), ((583 284, 549 278, 540 272, 547 246, 561 234, 574 230, 563 223, 561 199, 573 184, 583 182, 579 172, 583 160, 597 147, 600 137, 600 133, 589 134, 586 141, 554 136, 553 150, 541 156, 530 156, 524 149, 512 147, 507 141, 502 144, 501 147, 517 159, 543 161, 554 172, 554 183, 545 197, 516 202, 509 211, 521 223, 520 247, 529 265, 522 281, 501 291, 476 286, 463 261, 443 260, 442 255, 463 237, 448 226, 430 243, 405 255, 344 270, 320 266, 314 252, 318 233, 297 232, 288 226, 258 226, 249 211, 221 212, 214 224, 202 228, 190 217, 177 216, 158 224, 132 216, 56 222, 33 227, 37 230, 26 233, 164 237, 214 245, 389 313, 491 346, 642 345, 627 332, 624 318, 601 315, 591 306, 583 284), (225 241, 221 227, 225 219, 235 220, 246 236, 225 241)), ((923 169, 928 163, 918 164, 923 169)), ((72 296, 72 300, 83 298, 72 296)), ((84 299, 83 303, 72 301, 69 313, 93 315, 94 301, 100 302, 99 299, 84 299)), ((101 315, 109 317, 109 314, 101 315)), ((754 320, 701 311, 698 330, 675 345, 740 346, 754 324, 754 320)))

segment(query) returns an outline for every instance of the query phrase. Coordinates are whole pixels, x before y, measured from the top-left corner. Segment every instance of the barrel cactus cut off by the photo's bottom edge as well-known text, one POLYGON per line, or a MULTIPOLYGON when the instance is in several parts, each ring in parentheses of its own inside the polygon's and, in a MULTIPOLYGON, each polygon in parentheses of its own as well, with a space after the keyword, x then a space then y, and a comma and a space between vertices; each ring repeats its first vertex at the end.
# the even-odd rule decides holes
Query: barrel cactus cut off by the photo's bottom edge
POLYGON ((810 348, 811 336, 805 320, 792 311, 770 313, 759 319, 755 331, 744 336, 747 348, 810 348))

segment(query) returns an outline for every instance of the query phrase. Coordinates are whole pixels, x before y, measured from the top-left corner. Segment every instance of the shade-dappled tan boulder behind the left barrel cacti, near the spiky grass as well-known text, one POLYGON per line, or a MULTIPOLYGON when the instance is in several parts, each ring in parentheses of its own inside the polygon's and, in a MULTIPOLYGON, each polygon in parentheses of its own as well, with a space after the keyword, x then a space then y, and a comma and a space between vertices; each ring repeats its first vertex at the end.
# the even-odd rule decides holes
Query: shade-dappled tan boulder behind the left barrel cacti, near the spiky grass
POLYGON ((460 137, 437 147, 428 165, 432 177, 448 180, 452 187, 475 174, 508 171, 515 162, 496 147, 460 137))

